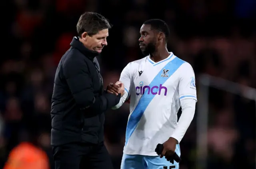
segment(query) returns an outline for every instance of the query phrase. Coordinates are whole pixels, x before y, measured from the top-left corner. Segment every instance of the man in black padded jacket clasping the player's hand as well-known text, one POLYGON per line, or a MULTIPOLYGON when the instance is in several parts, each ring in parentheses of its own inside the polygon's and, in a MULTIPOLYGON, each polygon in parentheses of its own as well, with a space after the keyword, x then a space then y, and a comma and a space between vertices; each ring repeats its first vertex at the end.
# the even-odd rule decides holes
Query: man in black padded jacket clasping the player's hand
POLYGON ((103 89, 96 56, 107 45, 109 22, 100 14, 85 12, 76 26, 78 36, 62 56, 52 95, 51 144, 55 169, 112 169, 104 146, 104 111, 124 94, 103 89))

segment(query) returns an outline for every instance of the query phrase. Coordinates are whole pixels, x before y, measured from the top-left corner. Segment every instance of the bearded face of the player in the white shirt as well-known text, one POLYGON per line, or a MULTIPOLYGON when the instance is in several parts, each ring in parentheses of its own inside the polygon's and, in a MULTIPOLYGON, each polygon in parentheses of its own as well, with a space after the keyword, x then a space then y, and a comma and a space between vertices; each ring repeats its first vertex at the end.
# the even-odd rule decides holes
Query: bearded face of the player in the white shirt
POLYGON ((143 24, 140 28, 140 50, 145 56, 154 53, 156 50, 156 33, 154 30, 151 30, 150 27, 150 25, 143 24))

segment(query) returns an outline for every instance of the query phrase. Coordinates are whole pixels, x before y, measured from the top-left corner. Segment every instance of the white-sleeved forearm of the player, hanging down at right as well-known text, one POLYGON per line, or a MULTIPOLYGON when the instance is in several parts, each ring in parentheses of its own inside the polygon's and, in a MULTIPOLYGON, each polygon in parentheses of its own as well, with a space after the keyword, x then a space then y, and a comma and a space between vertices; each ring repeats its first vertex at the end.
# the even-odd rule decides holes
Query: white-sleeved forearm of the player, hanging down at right
POLYGON ((182 106, 182 114, 180 115, 178 126, 171 136, 174 139, 176 139, 178 143, 180 143, 180 141, 184 137, 191 121, 194 118, 195 109, 196 109, 196 100, 184 99, 181 101, 181 106, 182 106))

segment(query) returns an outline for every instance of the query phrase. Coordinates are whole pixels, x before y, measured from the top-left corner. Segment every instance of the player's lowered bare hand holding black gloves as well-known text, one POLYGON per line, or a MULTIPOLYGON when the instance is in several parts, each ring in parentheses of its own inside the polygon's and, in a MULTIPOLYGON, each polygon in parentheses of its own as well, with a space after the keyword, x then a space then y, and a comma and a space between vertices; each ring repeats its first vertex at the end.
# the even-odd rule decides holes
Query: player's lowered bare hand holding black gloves
POLYGON ((176 144, 178 141, 172 137, 170 137, 166 142, 164 142, 164 149, 160 155, 160 158, 164 157, 168 160, 168 157, 171 157, 176 149, 176 144))

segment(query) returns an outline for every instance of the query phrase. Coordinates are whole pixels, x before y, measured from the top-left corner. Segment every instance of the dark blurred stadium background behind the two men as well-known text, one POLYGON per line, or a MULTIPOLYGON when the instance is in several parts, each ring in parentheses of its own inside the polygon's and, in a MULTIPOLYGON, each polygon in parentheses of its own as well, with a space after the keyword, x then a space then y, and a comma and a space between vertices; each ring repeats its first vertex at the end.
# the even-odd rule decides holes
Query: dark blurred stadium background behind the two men
MULTIPOLYGON (((54 74, 76 36, 80 14, 93 11, 113 24, 108 46, 98 58, 105 86, 119 79, 128 62, 143 57, 139 29, 151 18, 169 24, 169 50, 193 66, 198 104, 181 142, 180 169, 255 169, 256 0, 3 0, 1 4, 0 168, 10 151, 32 135, 54 169, 50 147, 54 74)), ((106 112, 105 143, 115 169, 120 169, 128 107, 106 112)))

